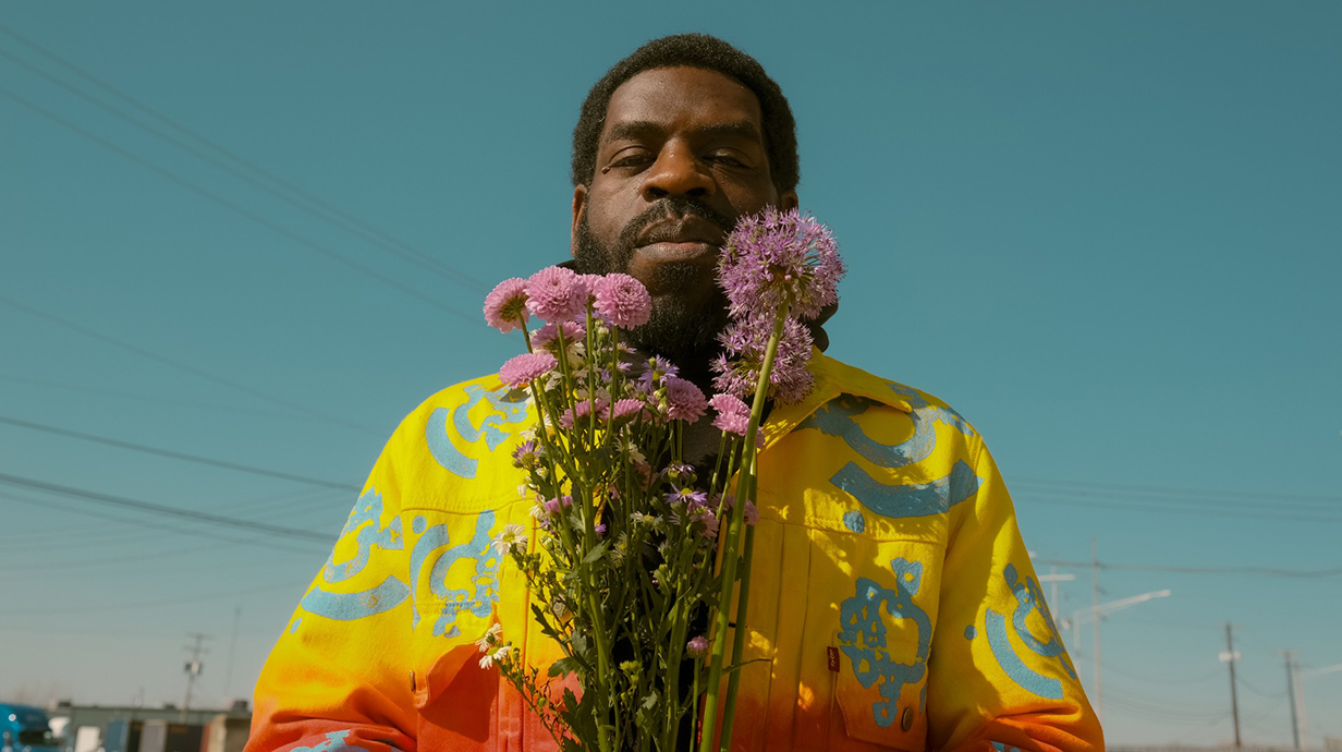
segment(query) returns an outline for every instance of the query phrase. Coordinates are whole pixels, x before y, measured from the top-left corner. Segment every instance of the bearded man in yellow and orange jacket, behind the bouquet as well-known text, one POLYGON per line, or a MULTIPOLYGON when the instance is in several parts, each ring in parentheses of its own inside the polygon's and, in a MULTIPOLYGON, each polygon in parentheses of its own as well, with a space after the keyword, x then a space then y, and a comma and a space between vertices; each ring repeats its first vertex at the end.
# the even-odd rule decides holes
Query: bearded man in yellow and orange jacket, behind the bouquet
MULTIPOLYGON (((756 60, 651 42, 574 130, 576 263, 643 281, 639 345, 706 383, 718 246, 738 216, 796 207, 797 176, 792 114, 756 60)), ((811 396, 762 430, 733 747, 1102 749, 978 434, 923 392, 819 353, 811 368, 811 396)), ((475 647, 497 623, 533 665, 558 657, 488 545, 534 524, 509 459, 533 420, 488 376, 403 422, 262 673, 248 752, 553 748, 475 647)))

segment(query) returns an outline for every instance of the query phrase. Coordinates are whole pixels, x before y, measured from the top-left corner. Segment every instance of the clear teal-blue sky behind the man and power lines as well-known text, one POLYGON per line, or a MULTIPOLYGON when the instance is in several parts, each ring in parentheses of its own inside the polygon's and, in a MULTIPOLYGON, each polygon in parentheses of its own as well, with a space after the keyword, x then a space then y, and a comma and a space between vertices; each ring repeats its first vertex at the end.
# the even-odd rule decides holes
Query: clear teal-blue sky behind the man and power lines
MULTIPOLYGON (((34 482, 330 537, 354 498, 15 420, 358 485, 415 404, 517 350, 479 305, 568 252, 582 95, 680 31, 781 83, 852 269, 831 355, 980 428, 1039 569, 1078 577, 1055 612, 1090 603, 1066 563, 1092 540, 1103 602, 1173 591, 1103 623, 1113 743, 1231 739, 1227 622, 1248 741, 1291 740, 1278 651, 1342 663, 1337 4, 0 23, 0 696, 180 702, 191 632, 196 702, 247 696, 325 556, 34 482)), ((1094 681, 1090 630, 1071 647, 1094 681)), ((1303 686, 1311 740, 1342 737, 1342 671, 1303 686)))

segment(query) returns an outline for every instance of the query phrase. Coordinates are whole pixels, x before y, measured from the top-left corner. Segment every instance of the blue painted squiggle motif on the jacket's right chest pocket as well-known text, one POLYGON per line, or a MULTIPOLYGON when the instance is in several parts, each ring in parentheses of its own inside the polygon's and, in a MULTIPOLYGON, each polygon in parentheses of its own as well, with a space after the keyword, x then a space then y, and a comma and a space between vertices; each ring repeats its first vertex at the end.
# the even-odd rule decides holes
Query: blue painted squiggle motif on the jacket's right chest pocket
MULTIPOLYGON (((856 595, 839 606, 840 650, 852 662, 854 675, 864 688, 879 684, 882 700, 871 706, 879 726, 895 722, 895 704, 906 684, 917 684, 927 670, 927 651, 931 646, 931 619, 914 603, 922 587, 922 563, 895 559, 890 563, 895 573, 895 587, 888 590, 875 580, 859 577, 856 595), (913 619, 918 624, 918 649, 911 662, 894 659, 886 645, 886 624, 880 611, 896 619, 913 619)), ((926 694, 919 694, 923 704, 926 694)))

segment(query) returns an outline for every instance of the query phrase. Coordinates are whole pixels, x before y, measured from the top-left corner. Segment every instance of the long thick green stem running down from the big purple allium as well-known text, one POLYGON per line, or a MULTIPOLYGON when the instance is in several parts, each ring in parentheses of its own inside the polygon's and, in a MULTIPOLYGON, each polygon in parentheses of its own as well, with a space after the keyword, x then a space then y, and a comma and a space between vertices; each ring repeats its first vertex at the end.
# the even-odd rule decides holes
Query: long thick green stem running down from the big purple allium
MULTIPOLYGON (((769 376, 773 373, 773 359, 778 355, 778 340, 782 338, 782 324, 788 318, 788 306, 778 309, 778 316, 773 322, 773 333, 769 334, 769 345, 764 352, 764 364, 760 367, 760 379, 756 381, 754 404, 750 407, 750 424, 746 427, 745 447, 742 449, 741 478, 737 482, 737 501, 731 508, 731 525, 727 528, 727 548, 722 557, 722 594, 718 599, 718 622, 713 634, 713 662, 709 665, 709 692, 703 706, 703 732, 699 736, 699 752, 713 749, 713 732, 717 726, 718 690, 722 688, 722 657, 727 647, 727 624, 731 618, 731 591, 737 584, 737 568, 739 563, 738 545, 741 543, 741 528, 745 522, 746 502, 750 500, 746 493, 754 493, 752 475, 756 466, 756 436, 760 432, 760 419, 764 415, 764 404, 769 396, 769 376)), ((746 628, 745 596, 749 587, 742 585, 741 600, 737 603, 737 632, 746 628)), ((730 728, 731 716, 735 708, 727 705, 723 709, 723 729, 730 728)), ((722 747, 731 743, 723 733, 722 747)))

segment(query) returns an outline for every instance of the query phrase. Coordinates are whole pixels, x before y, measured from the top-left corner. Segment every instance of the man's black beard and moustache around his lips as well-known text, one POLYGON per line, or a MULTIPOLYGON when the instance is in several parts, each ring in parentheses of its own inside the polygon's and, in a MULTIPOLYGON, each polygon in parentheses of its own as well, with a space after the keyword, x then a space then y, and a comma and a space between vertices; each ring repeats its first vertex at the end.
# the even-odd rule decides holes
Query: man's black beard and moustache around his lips
MULTIPOLYGON (((633 218, 620 232, 616 243, 605 247, 592 235, 586 212, 584 212, 582 219, 578 220, 577 247, 573 250, 577 271, 582 274, 628 273, 637 235, 668 214, 672 216, 701 216, 718 224, 725 232, 731 230, 730 219, 703 204, 690 199, 667 197, 633 218)), ((705 274, 701 265, 666 263, 658 267, 656 274, 655 283, 659 289, 687 290, 687 294, 654 295, 652 316, 647 324, 629 332, 631 344, 646 353, 671 360, 680 368, 683 377, 698 384, 707 384, 711 380, 709 364, 722 350, 718 333, 726 328, 729 321, 727 298, 718 286, 713 286, 707 295, 696 291, 688 293, 705 274)))

